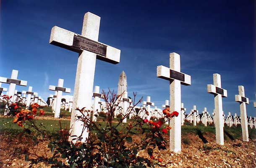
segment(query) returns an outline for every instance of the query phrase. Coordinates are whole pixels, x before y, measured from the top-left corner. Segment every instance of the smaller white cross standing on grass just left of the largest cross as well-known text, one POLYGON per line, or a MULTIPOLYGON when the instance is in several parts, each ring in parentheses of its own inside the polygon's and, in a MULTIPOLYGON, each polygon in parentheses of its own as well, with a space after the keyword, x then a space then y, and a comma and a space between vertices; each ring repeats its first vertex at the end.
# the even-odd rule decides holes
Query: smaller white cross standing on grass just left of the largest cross
POLYGON ((57 91, 56 108, 55 108, 55 114, 54 114, 55 118, 60 117, 60 104, 62 99, 62 92, 70 93, 71 91, 70 88, 63 87, 63 82, 64 82, 63 79, 59 79, 58 86, 52 86, 52 85, 49 86, 49 90, 57 91))

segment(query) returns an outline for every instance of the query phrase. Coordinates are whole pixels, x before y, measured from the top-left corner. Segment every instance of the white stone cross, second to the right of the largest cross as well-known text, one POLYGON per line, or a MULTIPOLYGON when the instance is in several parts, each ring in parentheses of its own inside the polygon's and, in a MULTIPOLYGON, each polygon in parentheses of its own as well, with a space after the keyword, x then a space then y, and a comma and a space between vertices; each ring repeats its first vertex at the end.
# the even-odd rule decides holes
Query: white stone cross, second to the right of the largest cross
POLYGON ((207 85, 207 91, 208 93, 214 94, 216 143, 219 145, 224 145, 222 97, 227 97, 227 90, 221 88, 220 74, 213 74, 213 83, 214 85, 207 85))

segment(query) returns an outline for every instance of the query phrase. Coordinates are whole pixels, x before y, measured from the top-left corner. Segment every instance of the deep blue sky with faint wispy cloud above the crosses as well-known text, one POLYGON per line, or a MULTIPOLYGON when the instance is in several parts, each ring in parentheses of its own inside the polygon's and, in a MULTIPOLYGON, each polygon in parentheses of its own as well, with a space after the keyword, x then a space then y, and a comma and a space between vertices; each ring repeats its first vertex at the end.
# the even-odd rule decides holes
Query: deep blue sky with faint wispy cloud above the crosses
MULTIPOLYGON (((101 17, 99 41, 121 50, 119 64, 97 60, 94 85, 117 90, 124 70, 128 95, 151 96, 161 107, 169 99, 169 81, 156 77, 158 65, 169 66, 169 53, 180 54, 181 71, 191 75, 182 86, 187 113, 197 105, 212 113, 214 96, 206 85, 213 74, 227 89, 223 110, 240 115, 238 85, 245 87, 248 116, 256 116, 255 1, 253 0, 2 0, 0 12, 0 76, 28 81, 45 100, 49 85, 64 79, 73 94, 78 53, 49 44, 55 25, 81 34, 84 13, 101 17)), ((8 87, 3 84, 3 87, 8 87)), ((18 86, 17 90, 28 87, 18 86)), ((65 95, 65 94, 64 94, 65 95)))

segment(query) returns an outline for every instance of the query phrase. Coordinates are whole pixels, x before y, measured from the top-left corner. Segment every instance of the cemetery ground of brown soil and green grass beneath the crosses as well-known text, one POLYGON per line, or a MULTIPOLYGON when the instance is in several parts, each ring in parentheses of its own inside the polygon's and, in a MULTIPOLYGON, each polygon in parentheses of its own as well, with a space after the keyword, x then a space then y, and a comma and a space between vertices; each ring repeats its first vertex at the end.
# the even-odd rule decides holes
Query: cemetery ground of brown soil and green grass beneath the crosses
MULTIPOLYGON (((45 110, 47 111, 47 110, 45 110)), ((54 119, 52 112, 46 112, 47 115, 39 117, 37 123, 50 134, 57 134, 62 128, 69 128, 70 117, 69 112, 62 112, 63 118, 54 119)), ((99 117, 102 127, 105 126, 104 118, 99 117)), ((0 116, 0 167, 7 168, 23 168, 29 167, 29 163, 25 161, 24 155, 19 153, 20 148, 31 146, 31 140, 24 139, 23 143, 19 142, 18 136, 22 134, 23 128, 13 124, 12 117, 0 116)), ((128 122, 132 122, 128 120, 128 122)), ((126 124, 121 125, 118 129, 122 129, 126 124)), ((253 168, 256 167, 255 159, 255 142, 256 130, 249 130, 249 142, 242 141, 241 127, 226 127, 225 145, 217 145, 215 143, 215 128, 213 126, 204 127, 201 123, 193 127, 191 123, 185 122, 182 126, 182 153, 176 154, 167 150, 154 149, 154 157, 162 158, 162 163, 153 160, 156 168, 160 167, 178 167, 178 168, 253 168), (208 143, 203 143, 203 141, 208 143)), ((33 130, 32 130, 33 131, 33 130)), ((134 135, 133 139, 139 138, 140 135, 134 135)), ((169 139, 169 135, 166 135, 169 139)), ((45 141, 40 142, 34 150, 38 150, 39 155, 51 155, 45 141)), ((149 157, 146 151, 139 153, 144 157, 149 157)), ((39 163, 35 167, 50 168, 46 163, 39 163)))

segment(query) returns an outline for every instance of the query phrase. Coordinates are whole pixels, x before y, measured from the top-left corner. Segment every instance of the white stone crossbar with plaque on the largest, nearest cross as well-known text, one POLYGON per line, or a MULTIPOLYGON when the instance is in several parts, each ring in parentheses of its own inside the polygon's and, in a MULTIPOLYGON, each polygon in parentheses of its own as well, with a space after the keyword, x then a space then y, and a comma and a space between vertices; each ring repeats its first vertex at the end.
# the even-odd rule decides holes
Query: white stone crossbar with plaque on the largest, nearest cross
POLYGON ((51 31, 50 44, 59 46, 77 53, 84 50, 97 54, 97 59, 112 64, 120 62, 121 51, 104 43, 90 40, 84 36, 78 35, 63 28, 54 26, 51 31), (96 49, 95 49, 96 48, 96 49), (105 49, 106 48, 106 49, 105 49))

